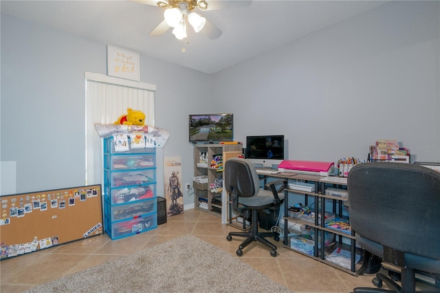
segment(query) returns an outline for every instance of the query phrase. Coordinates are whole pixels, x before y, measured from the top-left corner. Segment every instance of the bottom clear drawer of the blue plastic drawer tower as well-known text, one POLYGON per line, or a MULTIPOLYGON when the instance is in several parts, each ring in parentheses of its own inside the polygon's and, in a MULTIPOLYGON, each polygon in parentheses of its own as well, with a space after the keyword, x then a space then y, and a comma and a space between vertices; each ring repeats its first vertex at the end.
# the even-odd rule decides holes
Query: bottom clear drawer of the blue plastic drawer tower
POLYGON ((112 223, 109 217, 105 217, 104 229, 111 239, 129 237, 154 228, 157 228, 157 213, 116 223, 112 223))

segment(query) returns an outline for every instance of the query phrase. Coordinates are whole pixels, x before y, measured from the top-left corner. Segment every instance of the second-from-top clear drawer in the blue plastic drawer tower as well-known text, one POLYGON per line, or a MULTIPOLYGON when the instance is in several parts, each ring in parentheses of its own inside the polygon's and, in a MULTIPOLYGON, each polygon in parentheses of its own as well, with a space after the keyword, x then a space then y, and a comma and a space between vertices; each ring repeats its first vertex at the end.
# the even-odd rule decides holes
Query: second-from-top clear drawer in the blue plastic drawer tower
POLYGON ((113 171, 104 170, 104 182, 110 187, 138 186, 142 184, 155 183, 155 169, 139 171, 113 171))

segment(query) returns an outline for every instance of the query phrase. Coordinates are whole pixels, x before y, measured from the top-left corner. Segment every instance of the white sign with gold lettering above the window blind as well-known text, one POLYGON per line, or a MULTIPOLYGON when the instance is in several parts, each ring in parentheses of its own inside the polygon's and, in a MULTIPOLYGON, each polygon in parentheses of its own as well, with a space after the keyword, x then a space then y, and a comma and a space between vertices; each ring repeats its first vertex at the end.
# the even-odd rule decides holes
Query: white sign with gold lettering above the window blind
POLYGON ((140 81, 139 53, 107 45, 107 75, 140 81))

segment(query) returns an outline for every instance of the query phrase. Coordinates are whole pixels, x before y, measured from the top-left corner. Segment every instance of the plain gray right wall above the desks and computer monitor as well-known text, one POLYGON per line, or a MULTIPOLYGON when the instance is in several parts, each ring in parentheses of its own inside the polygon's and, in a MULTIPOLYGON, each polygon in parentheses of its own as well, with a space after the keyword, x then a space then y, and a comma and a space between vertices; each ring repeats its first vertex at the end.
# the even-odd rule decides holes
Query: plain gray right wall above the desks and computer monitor
POLYGON ((234 137, 284 134, 291 160, 366 159, 397 139, 440 162, 439 1, 393 1, 213 75, 234 137))

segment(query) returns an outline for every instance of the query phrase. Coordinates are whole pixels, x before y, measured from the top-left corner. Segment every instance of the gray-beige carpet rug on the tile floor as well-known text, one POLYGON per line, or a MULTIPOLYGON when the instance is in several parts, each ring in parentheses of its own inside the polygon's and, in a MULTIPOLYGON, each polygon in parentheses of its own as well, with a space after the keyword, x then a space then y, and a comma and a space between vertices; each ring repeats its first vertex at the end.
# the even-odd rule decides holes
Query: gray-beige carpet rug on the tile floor
POLYGON ((292 292, 210 243, 185 235, 25 292, 292 292))

